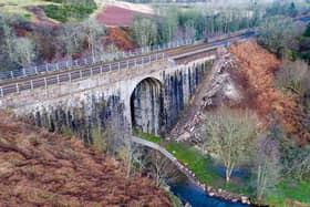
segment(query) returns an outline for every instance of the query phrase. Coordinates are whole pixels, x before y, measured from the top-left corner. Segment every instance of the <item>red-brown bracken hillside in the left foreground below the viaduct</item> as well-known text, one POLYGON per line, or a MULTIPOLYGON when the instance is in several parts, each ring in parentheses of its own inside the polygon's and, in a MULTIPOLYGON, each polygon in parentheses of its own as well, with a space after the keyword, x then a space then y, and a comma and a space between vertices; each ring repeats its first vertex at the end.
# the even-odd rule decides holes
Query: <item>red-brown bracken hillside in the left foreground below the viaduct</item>
POLYGON ((172 206, 122 163, 0 112, 0 206, 172 206))

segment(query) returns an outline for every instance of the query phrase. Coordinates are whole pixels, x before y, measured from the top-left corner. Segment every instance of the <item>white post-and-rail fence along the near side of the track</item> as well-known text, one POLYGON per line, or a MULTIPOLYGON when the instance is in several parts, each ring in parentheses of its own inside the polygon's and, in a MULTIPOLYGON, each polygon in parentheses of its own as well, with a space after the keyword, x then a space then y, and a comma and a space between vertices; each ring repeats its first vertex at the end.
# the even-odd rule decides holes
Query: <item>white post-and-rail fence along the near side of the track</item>
POLYGON ((32 91, 38 87, 43 87, 46 90, 49 85, 60 84, 63 82, 72 82, 74 80, 82 80, 110 71, 121 71, 130 68, 140 68, 166 59, 167 56, 164 53, 154 53, 147 56, 140 56, 135 59, 133 58, 125 61, 113 62, 110 64, 89 66, 81 70, 63 71, 62 73, 58 73, 54 75, 42 75, 42 77, 33 76, 33 79, 31 80, 25 80, 23 82, 17 81, 16 83, 0 86, 0 97, 12 93, 19 93, 21 91, 32 91))

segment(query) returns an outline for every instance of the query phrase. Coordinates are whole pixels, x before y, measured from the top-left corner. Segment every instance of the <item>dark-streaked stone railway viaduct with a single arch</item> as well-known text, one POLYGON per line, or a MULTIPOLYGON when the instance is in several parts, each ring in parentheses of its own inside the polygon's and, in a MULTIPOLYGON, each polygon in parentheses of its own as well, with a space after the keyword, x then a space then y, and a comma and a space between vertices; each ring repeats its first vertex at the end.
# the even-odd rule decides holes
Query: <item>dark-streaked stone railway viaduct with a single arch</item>
MULTIPOLYGON (((127 64, 99 74, 91 70, 92 75, 86 77, 2 94, 0 108, 11 110, 51 132, 70 130, 89 144, 116 115, 122 115, 121 124, 136 131, 165 134, 210 70, 217 49, 204 43, 197 49, 192 45, 190 51, 185 48, 144 64, 127 64)), ((3 89, 3 84, 0 86, 3 89)))

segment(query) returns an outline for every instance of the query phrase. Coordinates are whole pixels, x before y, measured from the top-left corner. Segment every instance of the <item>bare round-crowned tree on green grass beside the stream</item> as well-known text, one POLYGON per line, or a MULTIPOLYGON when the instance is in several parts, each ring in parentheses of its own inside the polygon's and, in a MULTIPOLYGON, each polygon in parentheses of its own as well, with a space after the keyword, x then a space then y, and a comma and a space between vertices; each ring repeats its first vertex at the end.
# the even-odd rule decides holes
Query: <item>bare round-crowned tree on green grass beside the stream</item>
POLYGON ((258 118, 254 112, 220 107, 200 127, 202 148, 226 167, 226 182, 235 167, 248 159, 258 118))

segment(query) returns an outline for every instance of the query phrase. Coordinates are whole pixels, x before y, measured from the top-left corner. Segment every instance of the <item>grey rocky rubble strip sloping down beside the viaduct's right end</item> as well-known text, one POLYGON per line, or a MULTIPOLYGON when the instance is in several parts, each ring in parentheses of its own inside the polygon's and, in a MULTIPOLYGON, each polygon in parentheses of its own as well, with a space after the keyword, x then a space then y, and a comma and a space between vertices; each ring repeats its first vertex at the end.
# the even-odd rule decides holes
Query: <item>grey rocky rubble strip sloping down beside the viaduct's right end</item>
POLYGON ((206 108, 218 106, 223 101, 239 103, 242 100, 241 90, 229 73, 237 68, 234 56, 225 48, 218 49, 218 56, 210 73, 204 76, 190 106, 170 133, 177 141, 196 139, 195 130, 206 108))

